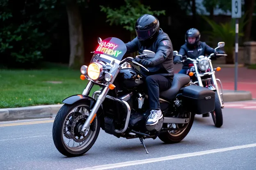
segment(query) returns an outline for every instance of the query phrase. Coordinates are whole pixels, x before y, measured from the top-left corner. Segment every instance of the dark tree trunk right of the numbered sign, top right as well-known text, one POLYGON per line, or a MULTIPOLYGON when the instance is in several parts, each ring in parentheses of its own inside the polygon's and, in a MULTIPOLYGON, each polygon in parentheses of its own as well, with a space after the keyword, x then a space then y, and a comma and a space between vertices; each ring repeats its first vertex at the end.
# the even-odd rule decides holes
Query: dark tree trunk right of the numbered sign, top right
POLYGON ((245 0, 245 12, 247 12, 247 16, 245 20, 248 20, 245 25, 245 41, 249 41, 251 39, 251 22, 252 22, 252 14, 254 12, 254 3, 255 0, 245 0))

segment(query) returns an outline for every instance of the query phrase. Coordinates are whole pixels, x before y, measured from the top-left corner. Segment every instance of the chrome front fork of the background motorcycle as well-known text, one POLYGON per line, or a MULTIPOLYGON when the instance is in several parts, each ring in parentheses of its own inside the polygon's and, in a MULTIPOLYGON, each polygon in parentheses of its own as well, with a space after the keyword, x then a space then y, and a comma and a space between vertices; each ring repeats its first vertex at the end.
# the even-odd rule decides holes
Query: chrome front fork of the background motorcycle
MULTIPOLYGON (((194 63, 194 68, 195 68, 196 76, 199 75, 198 67, 197 67, 196 63, 194 63)), ((210 69, 211 69, 211 72, 214 72, 212 62, 210 62, 210 69)), ((223 108, 224 104, 223 104, 222 98, 220 97, 219 87, 218 87, 218 84, 217 84, 215 74, 212 74, 211 77, 212 77, 213 85, 215 86, 217 94, 218 94, 219 103, 220 103, 221 107, 223 108)), ((201 79, 200 76, 197 76, 197 81, 198 81, 199 86, 204 87, 202 79, 201 79)), ((220 82, 219 79, 218 79, 218 81, 220 82)), ((220 82, 220 85, 222 86, 221 82, 220 82)), ((222 97, 223 97, 223 89, 222 89, 222 97)))

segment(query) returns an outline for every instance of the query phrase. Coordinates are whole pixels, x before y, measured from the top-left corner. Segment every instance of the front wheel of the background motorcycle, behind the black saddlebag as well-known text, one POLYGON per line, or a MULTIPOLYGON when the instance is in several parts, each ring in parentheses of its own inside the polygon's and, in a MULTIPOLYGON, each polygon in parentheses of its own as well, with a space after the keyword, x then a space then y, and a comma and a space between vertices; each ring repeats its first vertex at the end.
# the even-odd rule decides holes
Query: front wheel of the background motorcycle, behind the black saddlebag
POLYGON ((222 109, 219 103, 219 97, 217 92, 215 92, 215 110, 211 112, 213 117, 214 125, 220 128, 223 125, 222 109))

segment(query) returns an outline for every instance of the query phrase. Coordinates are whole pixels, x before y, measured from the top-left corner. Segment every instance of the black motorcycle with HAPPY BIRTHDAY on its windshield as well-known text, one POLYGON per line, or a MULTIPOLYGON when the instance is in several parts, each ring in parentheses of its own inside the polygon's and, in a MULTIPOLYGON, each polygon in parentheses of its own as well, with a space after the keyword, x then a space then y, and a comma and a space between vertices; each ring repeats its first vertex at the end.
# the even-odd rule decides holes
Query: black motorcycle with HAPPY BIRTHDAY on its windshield
POLYGON ((57 150, 67 156, 85 154, 95 143, 100 128, 106 133, 126 139, 139 138, 146 153, 144 139, 157 137, 165 143, 178 143, 187 136, 194 122, 194 113, 214 110, 215 93, 194 85, 190 76, 175 74, 172 86, 160 92, 163 114, 157 124, 146 126, 150 114, 145 76, 149 72, 136 61, 154 58, 153 51, 144 50, 136 58, 127 57, 126 45, 119 38, 98 38, 88 66, 80 68, 82 80, 88 83, 82 94, 64 99, 53 123, 53 141, 57 150), (139 67, 137 69, 136 67, 139 67), (101 89, 89 96, 94 85, 101 89))

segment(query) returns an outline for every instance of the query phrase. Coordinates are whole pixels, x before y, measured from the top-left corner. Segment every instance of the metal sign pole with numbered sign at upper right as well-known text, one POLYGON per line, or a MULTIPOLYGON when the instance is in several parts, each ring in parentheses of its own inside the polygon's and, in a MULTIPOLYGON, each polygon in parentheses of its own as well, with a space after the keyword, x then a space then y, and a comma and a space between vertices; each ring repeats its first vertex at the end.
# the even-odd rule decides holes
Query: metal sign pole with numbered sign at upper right
POLYGON ((238 28, 239 18, 241 18, 242 5, 241 0, 232 0, 232 18, 235 19, 235 91, 238 82, 238 28))

